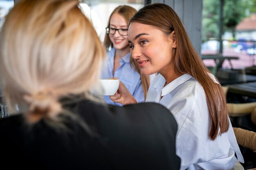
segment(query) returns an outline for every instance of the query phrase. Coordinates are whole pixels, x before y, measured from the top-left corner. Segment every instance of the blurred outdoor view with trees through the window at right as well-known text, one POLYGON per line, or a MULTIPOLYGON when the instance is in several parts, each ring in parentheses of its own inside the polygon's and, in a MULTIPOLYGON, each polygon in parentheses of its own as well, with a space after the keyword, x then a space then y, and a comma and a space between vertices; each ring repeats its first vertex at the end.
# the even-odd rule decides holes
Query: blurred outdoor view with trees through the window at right
POLYGON ((256 65, 256 0, 203 0, 202 13, 202 54, 238 56, 234 68, 256 65))

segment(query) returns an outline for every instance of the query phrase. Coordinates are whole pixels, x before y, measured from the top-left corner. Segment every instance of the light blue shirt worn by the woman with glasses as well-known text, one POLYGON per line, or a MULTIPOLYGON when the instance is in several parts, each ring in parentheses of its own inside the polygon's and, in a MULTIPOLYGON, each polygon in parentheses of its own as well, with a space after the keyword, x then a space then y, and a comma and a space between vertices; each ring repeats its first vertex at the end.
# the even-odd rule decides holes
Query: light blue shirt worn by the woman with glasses
MULTIPOLYGON (((102 68, 101 78, 119 78, 120 81, 129 90, 129 92, 135 97, 138 103, 144 102, 144 92, 140 75, 130 66, 130 53, 126 54, 120 60, 120 66, 113 74, 115 51, 115 48, 112 48, 110 51, 108 51, 106 63, 102 68)), ((122 106, 122 104, 112 102, 108 96, 104 96, 104 99, 108 104, 122 106)))

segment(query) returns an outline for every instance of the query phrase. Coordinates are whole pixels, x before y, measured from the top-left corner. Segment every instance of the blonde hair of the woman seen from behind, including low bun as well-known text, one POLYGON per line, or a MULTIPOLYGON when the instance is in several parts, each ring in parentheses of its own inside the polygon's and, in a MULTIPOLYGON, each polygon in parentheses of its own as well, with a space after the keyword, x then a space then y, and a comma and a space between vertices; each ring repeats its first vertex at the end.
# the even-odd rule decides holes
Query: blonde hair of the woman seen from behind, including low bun
POLYGON ((63 97, 97 86, 105 50, 79 0, 21 0, 0 33, 0 69, 9 106, 27 120, 57 121, 63 97))

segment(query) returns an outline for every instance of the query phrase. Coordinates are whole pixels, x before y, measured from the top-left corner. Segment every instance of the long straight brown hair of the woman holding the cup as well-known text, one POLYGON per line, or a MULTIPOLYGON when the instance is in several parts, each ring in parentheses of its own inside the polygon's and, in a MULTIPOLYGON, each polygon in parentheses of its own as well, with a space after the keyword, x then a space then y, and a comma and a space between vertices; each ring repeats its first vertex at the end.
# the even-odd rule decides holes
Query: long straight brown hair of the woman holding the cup
POLYGON ((131 22, 155 26, 166 35, 175 31, 177 40, 173 59, 175 73, 190 74, 204 88, 211 117, 209 137, 214 140, 218 135, 227 132, 229 129, 228 110, 222 87, 209 76, 209 70, 195 51, 177 13, 166 4, 155 3, 140 9, 131 18, 129 25, 131 22))

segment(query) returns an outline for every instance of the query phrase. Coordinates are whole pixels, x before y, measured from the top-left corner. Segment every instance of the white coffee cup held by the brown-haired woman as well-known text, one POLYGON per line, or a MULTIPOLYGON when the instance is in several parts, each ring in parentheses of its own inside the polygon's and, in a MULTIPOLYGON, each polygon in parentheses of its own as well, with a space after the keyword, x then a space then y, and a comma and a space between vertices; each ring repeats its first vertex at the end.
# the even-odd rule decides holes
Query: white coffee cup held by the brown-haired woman
POLYGON ((100 79, 103 91, 101 95, 115 95, 119 87, 119 79, 100 79))

